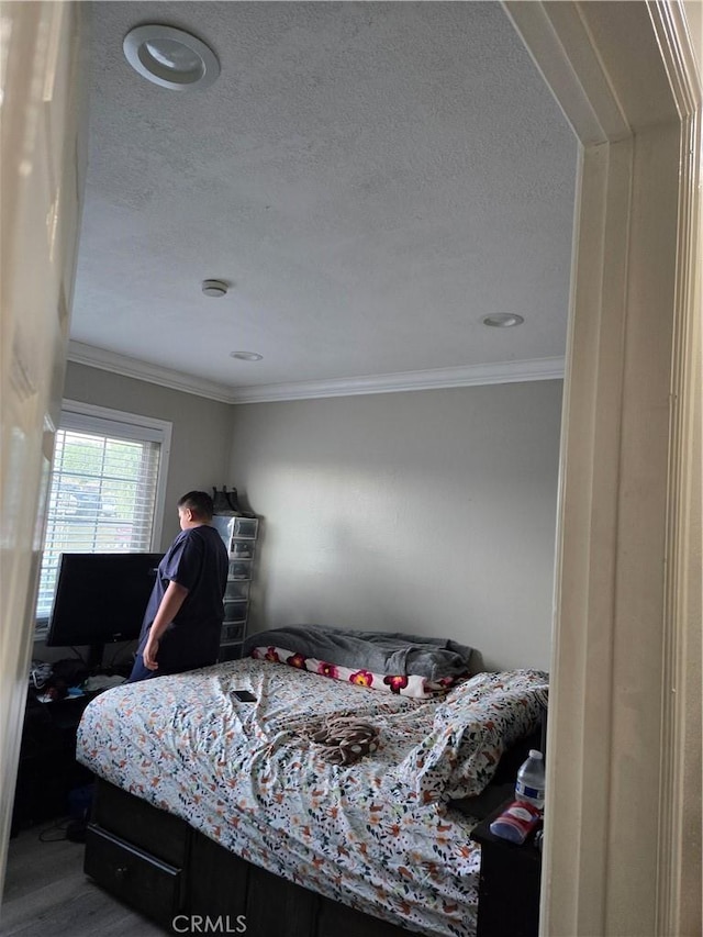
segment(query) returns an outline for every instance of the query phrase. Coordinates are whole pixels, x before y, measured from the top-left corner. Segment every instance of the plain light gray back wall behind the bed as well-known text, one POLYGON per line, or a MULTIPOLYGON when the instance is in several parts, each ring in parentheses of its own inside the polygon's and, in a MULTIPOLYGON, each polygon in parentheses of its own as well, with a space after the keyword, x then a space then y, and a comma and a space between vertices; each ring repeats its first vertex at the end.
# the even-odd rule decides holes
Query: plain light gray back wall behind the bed
POLYGON ((561 382, 235 406, 230 477, 263 515, 254 629, 550 656, 561 382))

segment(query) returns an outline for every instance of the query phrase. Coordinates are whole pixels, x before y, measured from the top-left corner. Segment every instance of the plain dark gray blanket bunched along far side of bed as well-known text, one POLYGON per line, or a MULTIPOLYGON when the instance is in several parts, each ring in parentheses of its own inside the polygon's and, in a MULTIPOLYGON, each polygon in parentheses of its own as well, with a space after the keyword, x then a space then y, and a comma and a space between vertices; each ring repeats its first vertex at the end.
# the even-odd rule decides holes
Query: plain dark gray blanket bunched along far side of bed
POLYGON ((472 648, 448 638, 289 625, 250 635, 244 642, 242 656, 247 657, 255 647, 271 646, 339 667, 365 668, 372 673, 416 673, 433 681, 466 673, 473 652, 472 648))

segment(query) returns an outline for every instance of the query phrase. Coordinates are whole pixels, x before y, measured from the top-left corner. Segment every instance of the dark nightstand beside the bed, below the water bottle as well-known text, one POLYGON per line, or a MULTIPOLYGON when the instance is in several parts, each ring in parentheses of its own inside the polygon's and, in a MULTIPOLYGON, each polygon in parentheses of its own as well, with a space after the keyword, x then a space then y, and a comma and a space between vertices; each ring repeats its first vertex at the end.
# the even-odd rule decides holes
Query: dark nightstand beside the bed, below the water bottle
POLYGON ((542 852, 534 845, 534 833, 517 846, 489 829, 513 799, 471 832, 481 847, 477 937, 537 937, 542 852))

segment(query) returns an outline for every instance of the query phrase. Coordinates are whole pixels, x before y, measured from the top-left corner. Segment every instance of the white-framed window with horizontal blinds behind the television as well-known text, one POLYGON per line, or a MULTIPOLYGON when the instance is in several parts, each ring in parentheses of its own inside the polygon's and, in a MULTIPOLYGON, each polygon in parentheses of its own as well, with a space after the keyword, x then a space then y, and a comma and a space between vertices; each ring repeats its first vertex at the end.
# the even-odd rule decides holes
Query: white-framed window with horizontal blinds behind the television
POLYGON ((54 445, 37 625, 63 553, 149 553, 161 535, 171 424, 64 401, 54 445))

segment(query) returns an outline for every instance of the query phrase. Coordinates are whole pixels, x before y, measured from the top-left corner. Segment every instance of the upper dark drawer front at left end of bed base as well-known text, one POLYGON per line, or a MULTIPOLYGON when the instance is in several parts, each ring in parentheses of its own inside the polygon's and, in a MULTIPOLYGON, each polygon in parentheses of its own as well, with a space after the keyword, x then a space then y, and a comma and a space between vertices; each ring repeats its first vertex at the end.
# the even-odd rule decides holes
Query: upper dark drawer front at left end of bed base
POLYGON ((191 829, 186 821, 98 780, 91 819, 169 866, 185 869, 191 829))

